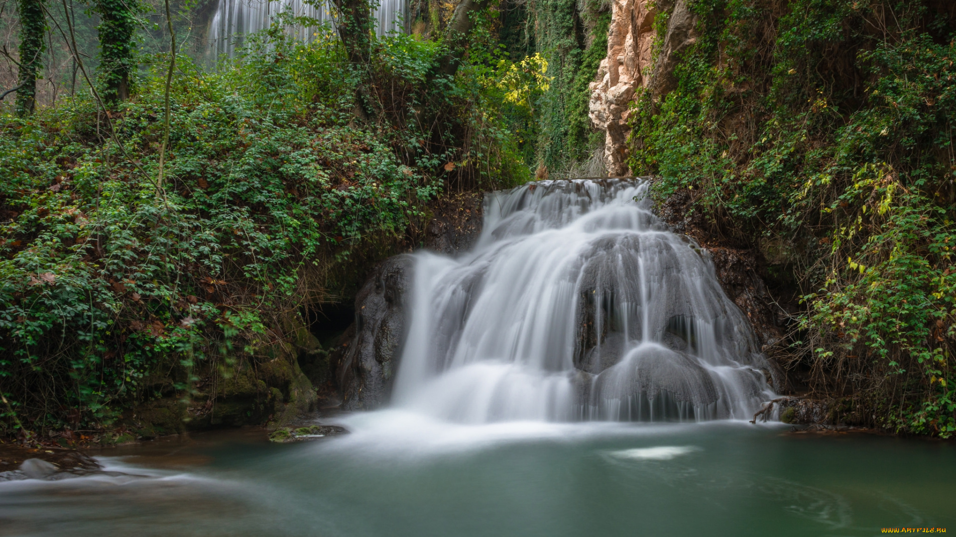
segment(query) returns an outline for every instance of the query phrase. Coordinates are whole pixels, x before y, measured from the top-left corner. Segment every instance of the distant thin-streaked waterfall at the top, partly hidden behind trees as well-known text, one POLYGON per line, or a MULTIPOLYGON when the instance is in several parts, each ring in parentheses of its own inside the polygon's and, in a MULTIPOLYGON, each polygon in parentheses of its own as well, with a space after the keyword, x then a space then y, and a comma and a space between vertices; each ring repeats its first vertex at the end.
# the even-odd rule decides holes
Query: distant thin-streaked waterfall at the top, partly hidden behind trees
MULTIPOLYGON (((210 52, 231 56, 242 46, 244 36, 268 28, 272 17, 286 10, 294 16, 312 17, 335 24, 335 15, 328 0, 219 0, 209 22, 210 52)), ((373 16, 377 21, 375 31, 379 36, 393 31, 406 32, 408 0, 381 0, 373 16)), ((302 41, 310 41, 315 32, 305 27, 295 27, 289 31, 302 41)))

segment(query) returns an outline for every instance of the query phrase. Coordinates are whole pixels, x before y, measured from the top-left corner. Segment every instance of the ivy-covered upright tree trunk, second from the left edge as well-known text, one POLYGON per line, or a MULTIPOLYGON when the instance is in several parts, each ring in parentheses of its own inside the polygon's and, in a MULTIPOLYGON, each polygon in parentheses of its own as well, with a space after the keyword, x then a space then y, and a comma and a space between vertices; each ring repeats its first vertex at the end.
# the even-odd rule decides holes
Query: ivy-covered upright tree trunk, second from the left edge
POLYGON ((136 32, 136 0, 98 0, 99 72, 103 98, 115 103, 129 98, 130 74, 136 68, 133 37, 136 32))

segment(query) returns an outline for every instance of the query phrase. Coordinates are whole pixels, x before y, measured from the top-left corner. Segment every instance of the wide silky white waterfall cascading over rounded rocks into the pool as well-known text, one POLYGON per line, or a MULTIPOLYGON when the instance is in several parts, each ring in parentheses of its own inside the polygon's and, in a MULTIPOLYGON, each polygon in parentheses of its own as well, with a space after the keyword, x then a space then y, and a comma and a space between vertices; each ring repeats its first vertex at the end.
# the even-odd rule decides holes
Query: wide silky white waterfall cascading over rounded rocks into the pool
POLYGON ((415 254, 393 403, 440 419, 750 419, 773 397, 750 324, 647 184, 485 200, 470 253, 415 254))

